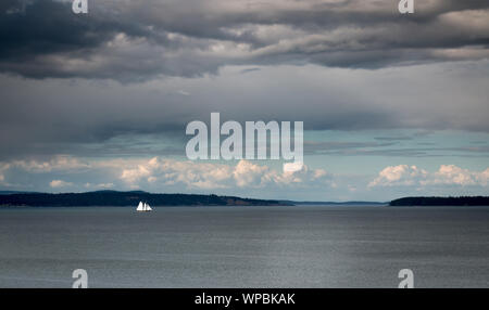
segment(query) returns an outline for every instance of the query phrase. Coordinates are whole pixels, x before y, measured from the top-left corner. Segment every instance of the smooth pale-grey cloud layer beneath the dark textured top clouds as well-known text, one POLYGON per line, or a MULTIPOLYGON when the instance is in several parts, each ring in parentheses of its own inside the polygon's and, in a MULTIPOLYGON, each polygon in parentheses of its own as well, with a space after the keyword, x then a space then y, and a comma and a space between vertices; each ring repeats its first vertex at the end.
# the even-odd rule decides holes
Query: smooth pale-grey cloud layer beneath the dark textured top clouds
POLYGON ((413 140, 439 129, 489 132, 488 68, 484 61, 381 70, 264 66, 246 74, 239 66, 217 76, 143 83, 0 76, 0 162, 49 154, 180 155, 186 125, 209 124, 211 112, 221 113, 221 122, 302 120, 306 130, 385 130, 374 144, 304 145, 316 154, 368 146, 381 154, 384 144, 404 137, 390 129, 415 128, 406 135, 413 140))

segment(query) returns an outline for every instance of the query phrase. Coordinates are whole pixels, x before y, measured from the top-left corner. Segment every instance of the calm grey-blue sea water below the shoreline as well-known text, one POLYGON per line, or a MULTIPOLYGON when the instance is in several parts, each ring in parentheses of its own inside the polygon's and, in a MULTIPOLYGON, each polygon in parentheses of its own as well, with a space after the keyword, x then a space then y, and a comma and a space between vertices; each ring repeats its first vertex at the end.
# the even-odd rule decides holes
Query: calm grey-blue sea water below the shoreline
POLYGON ((489 287, 489 207, 0 208, 0 287, 489 287))

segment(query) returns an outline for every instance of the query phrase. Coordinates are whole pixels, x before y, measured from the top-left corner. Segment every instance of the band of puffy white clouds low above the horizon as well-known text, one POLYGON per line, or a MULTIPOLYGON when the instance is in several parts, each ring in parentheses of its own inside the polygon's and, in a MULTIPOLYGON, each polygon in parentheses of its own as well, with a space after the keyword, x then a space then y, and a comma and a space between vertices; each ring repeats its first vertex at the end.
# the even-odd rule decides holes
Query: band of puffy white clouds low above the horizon
POLYGON ((472 171, 455 165, 441 165, 437 171, 427 171, 416 166, 398 165, 386 167, 375 178, 359 178, 330 173, 306 165, 299 171, 281 172, 244 159, 229 165, 161 157, 87 162, 55 156, 48 162, 16 160, 2 164, 0 185, 18 184, 28 184, 24 190, 47 192, 145 189, 158 193, 164 189, 164 192, 217 192, 304 201, 314 201, 311 197, 348 199, 354 197, 358 191, 362 197, 378 199, 377 191, 390 190, 390 194, 384 196, 384 199, 390 199, 406 190, 416 195, 450 195, 461 190, 460 193, 464 195, 485 193, 489 184, 489 168, 472 171), (93 183, 93 180, 99 183, 93 183), (342 193, 342 189, 349 195, 342 193))

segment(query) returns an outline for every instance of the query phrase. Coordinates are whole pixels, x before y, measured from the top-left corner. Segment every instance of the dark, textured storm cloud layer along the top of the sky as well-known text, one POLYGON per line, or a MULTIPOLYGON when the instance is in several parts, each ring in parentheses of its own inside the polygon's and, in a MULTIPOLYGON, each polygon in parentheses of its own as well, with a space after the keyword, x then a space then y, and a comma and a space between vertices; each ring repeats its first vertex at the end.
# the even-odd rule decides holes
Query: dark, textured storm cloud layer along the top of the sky
POLYGON ((0 70, 26 77, 200 76, 224 65, 378 68, 487 57, 488 1, 2 1, 0 70))

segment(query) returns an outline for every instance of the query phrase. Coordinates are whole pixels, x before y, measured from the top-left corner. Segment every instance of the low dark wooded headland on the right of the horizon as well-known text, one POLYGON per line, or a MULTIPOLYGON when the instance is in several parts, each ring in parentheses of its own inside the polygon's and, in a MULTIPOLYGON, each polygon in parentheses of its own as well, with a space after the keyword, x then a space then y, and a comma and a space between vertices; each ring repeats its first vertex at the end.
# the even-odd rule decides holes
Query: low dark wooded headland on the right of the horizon
POLYGON ((489 206, 488 196, 462 197, 404 197, 390 202, 390 206, 489 206))

